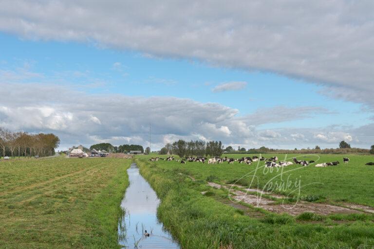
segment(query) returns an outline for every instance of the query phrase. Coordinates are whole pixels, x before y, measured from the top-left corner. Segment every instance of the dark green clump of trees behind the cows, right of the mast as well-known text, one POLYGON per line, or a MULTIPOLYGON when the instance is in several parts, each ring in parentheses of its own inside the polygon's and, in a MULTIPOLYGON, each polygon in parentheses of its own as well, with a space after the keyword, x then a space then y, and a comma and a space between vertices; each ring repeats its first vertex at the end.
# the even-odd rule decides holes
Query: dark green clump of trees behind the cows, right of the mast
POLYGON ((166 144, 159 154, 177 154, 180 157, 184 156, 221 156, 224 152, 223 145, 221 141, 209 141, 205 142, 203 140, 196 141, 185 141, 178 140, 172 144, 166 144))

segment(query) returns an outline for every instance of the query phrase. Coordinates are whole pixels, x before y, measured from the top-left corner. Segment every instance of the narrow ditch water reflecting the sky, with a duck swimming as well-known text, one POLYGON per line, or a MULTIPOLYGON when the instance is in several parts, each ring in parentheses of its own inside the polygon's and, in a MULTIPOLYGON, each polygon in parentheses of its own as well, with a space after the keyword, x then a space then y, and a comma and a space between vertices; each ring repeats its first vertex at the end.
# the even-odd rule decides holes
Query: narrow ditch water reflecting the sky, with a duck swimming
POLYGON ((178 242, 157 219, 160 199, 156 192, 140 175, 136 164, 132 164, 127 172, 130 186, 121 203, 125 214, 118 224, 119 244, 131 249, 180 249, 178 242), (150 236, 144 235, 145 230, 150 236))

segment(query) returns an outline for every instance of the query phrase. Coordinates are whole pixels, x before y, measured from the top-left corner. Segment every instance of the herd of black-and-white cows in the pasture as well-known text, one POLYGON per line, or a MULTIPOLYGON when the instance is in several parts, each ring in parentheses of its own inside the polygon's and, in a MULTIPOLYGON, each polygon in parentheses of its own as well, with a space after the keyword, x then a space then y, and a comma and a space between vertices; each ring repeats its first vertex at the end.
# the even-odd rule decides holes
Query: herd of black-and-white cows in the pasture
MULTIPOLYGON (((166 159, 161 157, 152 157, 149 159, 149 161, 158 161, 158 160, 166 160, 166 161, 176 161, 180 162, 181 164, 186 164, 186 162, 200 162, 205 163, 207 161, 208 164, 222 164, 224 162, 227 162, 228 164, 233 164, 234 162, 239 162, 240 164, 247 164, 250 165, 253 162, 257 161, 265 161, 265 166, 267 167, 283 167, 283 166, 289 166, 292 164, 299 164, 301 166, 308 166, 310 164, 315 163, 315 161, 299 161, 296 157, 293 158, 294 163, 288 162, 288 161, 278 161, 278 157, 270 157, 268 159, 264 158, 263 156, 253 156, 253 157, 242 157, 242 158, 227 158, 226 156, 224 158, 219 157, 213 157, 210 159, 207 159, 206 157, 198 157, 198 156, 192 156, 192 157, 186 157, 184 159, 175 159, 174 156, 168 156, 166 159)), ((349 158, 344 157, 343 162, 344 164, 348 164, 350 161, 349 158)), ((331 162, 331 163, 322 163, 317 164, 316 167, 326 167, 326 166, 337 166, 339 164, 339 161, 331 162)), ((374 165, 374 163, 367 163, 366 165, 374 165)))

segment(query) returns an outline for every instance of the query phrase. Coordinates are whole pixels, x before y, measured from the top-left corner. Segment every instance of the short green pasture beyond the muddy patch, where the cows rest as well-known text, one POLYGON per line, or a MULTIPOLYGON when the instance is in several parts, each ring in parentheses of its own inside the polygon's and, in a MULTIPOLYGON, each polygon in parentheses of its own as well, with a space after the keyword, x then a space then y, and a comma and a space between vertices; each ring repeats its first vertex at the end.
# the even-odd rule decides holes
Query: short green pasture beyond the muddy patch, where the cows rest
MULTIPOLYGON (((245 155, 225 155, 232 158, 240 158, 245 155)), ((247 155, 253 156, 253 155, 247 155)), ((285 159, 283 154, 267 154, 265 158, 278 156, 280 160, 285 159)), ((315 167, 314 165, 301 167, 291 165, 280 168, 265 168, 263 162, 257 165, 244 165, 234 163, 228 165, 208 165, 201 163, 188 163, 181 165, 177 162, 159 161, 157 166, 165 169, 185 169, 186 172, 196 179, 206 180, 210 177, 213 182, 223 183, 225 181, 249 185, 254 179, 251 187, 270 190, 274 193, 298 195, 295 187, 275 188, 275 183, 291 182, 300 183, 300 195, 304 198, 308 196, 319 196, 324 201, 347 201, 374 207, 374 166, 366 166, 367 162, 374 162, 374 156, 362 155, 287 155, 287 161, 292 161, 293 157, 298 160, 315 160, 317 163, 339 161, 338 166, 315 167), (343 164, 343 157, 349 157, 348 165, 343 164), (256 170, 256 168, 258 168, 256 170), (271 171, 272 170, 272 171, 271 171), (255 176, 255 177, 254 177, 255 176), (273 183, 272 185, 270 183, 273 183), (268 189, 270 188, 270 189, 268 189)), ((146 157, 146 156, 145 156, 146 157)), ((165 156, 166 158, 166 156, 165 156)))

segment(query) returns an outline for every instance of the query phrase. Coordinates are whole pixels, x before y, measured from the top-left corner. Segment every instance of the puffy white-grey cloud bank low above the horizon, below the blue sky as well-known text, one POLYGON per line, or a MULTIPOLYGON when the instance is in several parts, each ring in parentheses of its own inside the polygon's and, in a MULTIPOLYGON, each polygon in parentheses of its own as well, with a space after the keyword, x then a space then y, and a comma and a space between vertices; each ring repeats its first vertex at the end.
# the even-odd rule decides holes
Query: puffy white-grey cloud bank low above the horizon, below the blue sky
POLYGON ((172 97, 90 95, 72 90, 75 88, 29 83, 0 83, 0 88, 0 126, 56 133, 62 147, 90 146, 99 142, 148 146, 149 123, 152 125, 152 149, 178 139, 221 140, 225 146, 245 148, 315 145, 336 148, 341 140, 353 146, 369 147, 374 141, 373 124, 355 129, 339 126, 261 129, 262 124, 329 113, 318 107, 278 106, 239 116, 238 110, 218 103, 172 97), (148 108, 133 112, 143 106, 148 108))

